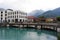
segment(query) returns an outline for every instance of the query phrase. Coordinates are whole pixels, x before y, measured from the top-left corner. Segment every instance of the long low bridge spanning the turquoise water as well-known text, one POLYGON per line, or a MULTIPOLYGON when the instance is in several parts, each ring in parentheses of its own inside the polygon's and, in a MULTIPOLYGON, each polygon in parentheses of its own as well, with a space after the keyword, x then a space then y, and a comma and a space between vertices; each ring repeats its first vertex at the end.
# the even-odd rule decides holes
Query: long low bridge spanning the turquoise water
POLYGON ((57 32, 60 32, 58 30, 58 28, 60 28, 60 23, 5 23, 5 24, 0 24, 0 25, 4 25, 4 26, 17 26, 19 28, 22 27, 33 27, 36 29, 42 29, 42 28, 49 28, 49 29, 53 29, 56 30, 57 32))

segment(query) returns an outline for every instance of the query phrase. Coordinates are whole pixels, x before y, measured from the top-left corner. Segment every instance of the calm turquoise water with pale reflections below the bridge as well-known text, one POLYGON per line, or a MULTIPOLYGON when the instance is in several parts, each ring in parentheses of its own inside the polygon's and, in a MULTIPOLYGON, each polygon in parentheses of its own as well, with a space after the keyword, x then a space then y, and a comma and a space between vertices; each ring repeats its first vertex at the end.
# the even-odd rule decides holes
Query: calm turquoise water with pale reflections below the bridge
POLYGON ((57 36, 49 30, 0 28, 0 40, 57 40, 57 36))

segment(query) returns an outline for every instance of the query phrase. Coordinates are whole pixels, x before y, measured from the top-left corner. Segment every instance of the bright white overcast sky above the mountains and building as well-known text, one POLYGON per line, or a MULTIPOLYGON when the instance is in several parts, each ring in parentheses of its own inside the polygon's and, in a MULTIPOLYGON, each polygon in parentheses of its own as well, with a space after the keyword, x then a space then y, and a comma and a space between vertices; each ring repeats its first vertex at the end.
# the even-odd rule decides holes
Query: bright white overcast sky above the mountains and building
POLYGON ((0 8, 32 12, 34 10, 52 10, 60 7, 60 0, 0 0, 0 8))

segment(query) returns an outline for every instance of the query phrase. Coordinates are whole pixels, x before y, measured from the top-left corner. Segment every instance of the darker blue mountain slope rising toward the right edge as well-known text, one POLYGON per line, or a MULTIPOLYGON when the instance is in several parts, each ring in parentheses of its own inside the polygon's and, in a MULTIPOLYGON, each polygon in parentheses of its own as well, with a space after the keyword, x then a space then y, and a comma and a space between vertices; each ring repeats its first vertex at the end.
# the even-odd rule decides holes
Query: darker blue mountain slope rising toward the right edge
POLYGON ((57 16, 60 16, 60 8, 56 8, 54 10, 49 10, 41 14, 40 16, 44 16, 46 18, 55 18, 57 16))

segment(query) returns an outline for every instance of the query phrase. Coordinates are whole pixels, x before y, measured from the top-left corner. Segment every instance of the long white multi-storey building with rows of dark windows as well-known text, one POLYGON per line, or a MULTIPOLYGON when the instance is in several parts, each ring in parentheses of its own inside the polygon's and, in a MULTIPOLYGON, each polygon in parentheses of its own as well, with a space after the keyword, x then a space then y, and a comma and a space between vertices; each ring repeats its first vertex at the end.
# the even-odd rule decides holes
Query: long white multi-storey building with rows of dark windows
POLYGON ((13 11, 11 9, 0 11, 0 23, 1 22, 26 22, 27 21, 27 13, 21 11, 13 11))

